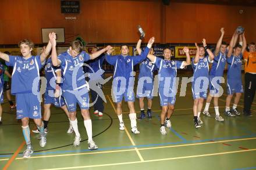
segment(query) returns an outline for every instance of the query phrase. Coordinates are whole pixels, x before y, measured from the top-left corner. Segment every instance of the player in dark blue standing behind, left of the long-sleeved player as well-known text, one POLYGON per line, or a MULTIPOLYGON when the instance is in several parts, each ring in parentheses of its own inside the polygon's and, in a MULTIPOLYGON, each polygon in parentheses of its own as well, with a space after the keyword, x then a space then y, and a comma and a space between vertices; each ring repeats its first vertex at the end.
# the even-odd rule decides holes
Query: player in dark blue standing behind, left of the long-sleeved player
MULTIPOLYGON (((97 47, 94 47, 91 49, 91 53, 95 53, 98 51, 97 47)), ((94 114, 98 114, 99 117, 103 116, 104 111, 104 104, 102 98, 98 95, 96 91, 93 90, 93 88, 100 88, 102 89, 102 84, 100 82, 100 79, 104 77, 104 70, 102 70, 102 64, 105 60, 105 55, 101 55, 97 57, 97 59, 90 60, 87 62, 87 64, 90 67, 87 67, 88 71, 88 77, 90 78, 89 85, 90 85, 90 91, 91 91, 91 100, 92 103, 94 103, 94 114), (94 77, 92 76, 93 73, 97 73, 97 71, 101 71, 101 77, 94 77), (100 78, 100 79, 99 79, 100 78), (94 87, 96 85, 97 87, 94 87), (97 97, 98 96, 98 97, 97 97)))

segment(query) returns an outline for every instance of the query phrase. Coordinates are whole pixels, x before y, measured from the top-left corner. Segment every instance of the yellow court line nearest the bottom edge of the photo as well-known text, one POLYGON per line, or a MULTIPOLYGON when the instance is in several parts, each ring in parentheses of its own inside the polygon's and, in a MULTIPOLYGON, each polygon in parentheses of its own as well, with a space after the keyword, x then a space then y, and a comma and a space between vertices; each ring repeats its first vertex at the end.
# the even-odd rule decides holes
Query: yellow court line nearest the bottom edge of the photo
MULTIPOLYGON (((232 153, 243 153, 243 152, 247 152, 247 151, 256 151, 256 149, 226 151, 226 152, 221 152, 221 153, 190 155, 190 156, 184 156, 184 157, 162 158, 162 159, 155 159, 155 160, 146 160, 146 161, 144 161, 144 162, 157 162, 157 161, 180 160, 180 159, 184 159, 184 158, 196 158, 196 157, 207 157, 207 156, 213 156, 213 155, 224 155, 224 154, 232 154, 232 153)), ((141 162, 141 161, 120 162, 120 163, 114 163, 114 164, 99 164, 99 165, 87 165, 87 166, 65 167, 65 168, 51 168, 51 169, 40 169, 40 170, 93 168, 93 167, 106 167, 106 166, 113 166, 113 165, 140 164, 140 163, 144 163, 144 162, 141 162)))

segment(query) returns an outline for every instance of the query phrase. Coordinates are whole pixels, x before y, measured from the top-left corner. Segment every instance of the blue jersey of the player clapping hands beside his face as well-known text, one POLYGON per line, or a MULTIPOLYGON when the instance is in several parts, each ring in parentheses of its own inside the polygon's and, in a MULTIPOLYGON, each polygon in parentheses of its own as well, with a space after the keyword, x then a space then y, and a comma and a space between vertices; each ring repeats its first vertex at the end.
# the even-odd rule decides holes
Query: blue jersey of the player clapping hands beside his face
POLYGON ((209 63, 212 63, 214 61, 209 60, 209 56, 205 56, 202 59, 198 60, 198 63, 194 63, 194 58, 192 59, 192 67, 193 67, 193 77, 194 81, 198 77, 207 77, 209 78, 209 63))

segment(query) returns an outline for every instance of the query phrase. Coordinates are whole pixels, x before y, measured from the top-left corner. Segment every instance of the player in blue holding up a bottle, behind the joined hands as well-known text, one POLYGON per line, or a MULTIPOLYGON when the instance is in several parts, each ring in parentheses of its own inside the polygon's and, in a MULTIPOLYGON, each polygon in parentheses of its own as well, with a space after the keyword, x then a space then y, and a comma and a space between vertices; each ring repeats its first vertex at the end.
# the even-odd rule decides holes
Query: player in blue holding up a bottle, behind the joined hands
MULTIPOLYGON (((140 38, 137 42, 137 52, 138 55, 141 55, 141 42, 142 38, 140 38)), ((154 49, 150 49, 150 54, 154 55, 154 49)), ((137 87, 137 97, 140 101, 140 117, 138 120, 142 120, 145 117, 144 113, 144 97, 147 97, 148 100, 148 110, 147 115, 148 118, 152 118, 151 107, 152 107, 152 99, 153 99, 153 85, 154 85, 154 77, 153 72, 157 70, 154 64, 147 58, 143 62, 140 63, 140 73, 138 74, 138 87, 137 87), (140 80, 143 80, 142 82, 140 80), (147 81, 143 83, 144 81, 147 81), (143 84, 143 86, 140 86, 143 84), (140 90, 141 87, 141 90, 140 90), (138 89, 140 91, 138 91, 138 89)))

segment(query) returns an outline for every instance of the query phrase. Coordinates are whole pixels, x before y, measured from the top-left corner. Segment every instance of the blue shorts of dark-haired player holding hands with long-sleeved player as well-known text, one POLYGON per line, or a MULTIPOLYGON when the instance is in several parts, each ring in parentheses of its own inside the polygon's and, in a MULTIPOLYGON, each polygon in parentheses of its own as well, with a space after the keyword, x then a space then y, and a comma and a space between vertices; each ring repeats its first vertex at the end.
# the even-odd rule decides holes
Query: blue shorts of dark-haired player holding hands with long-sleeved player
POLYGON ((160 105, 161 106, 168 106, 168 104, 170 104, 170 105, 175 104, 176 94, 171 95, 167 91, 164 93, 164 88, 162 88, 162 87, 159 87, 159 97, 160 97, 160 105))

